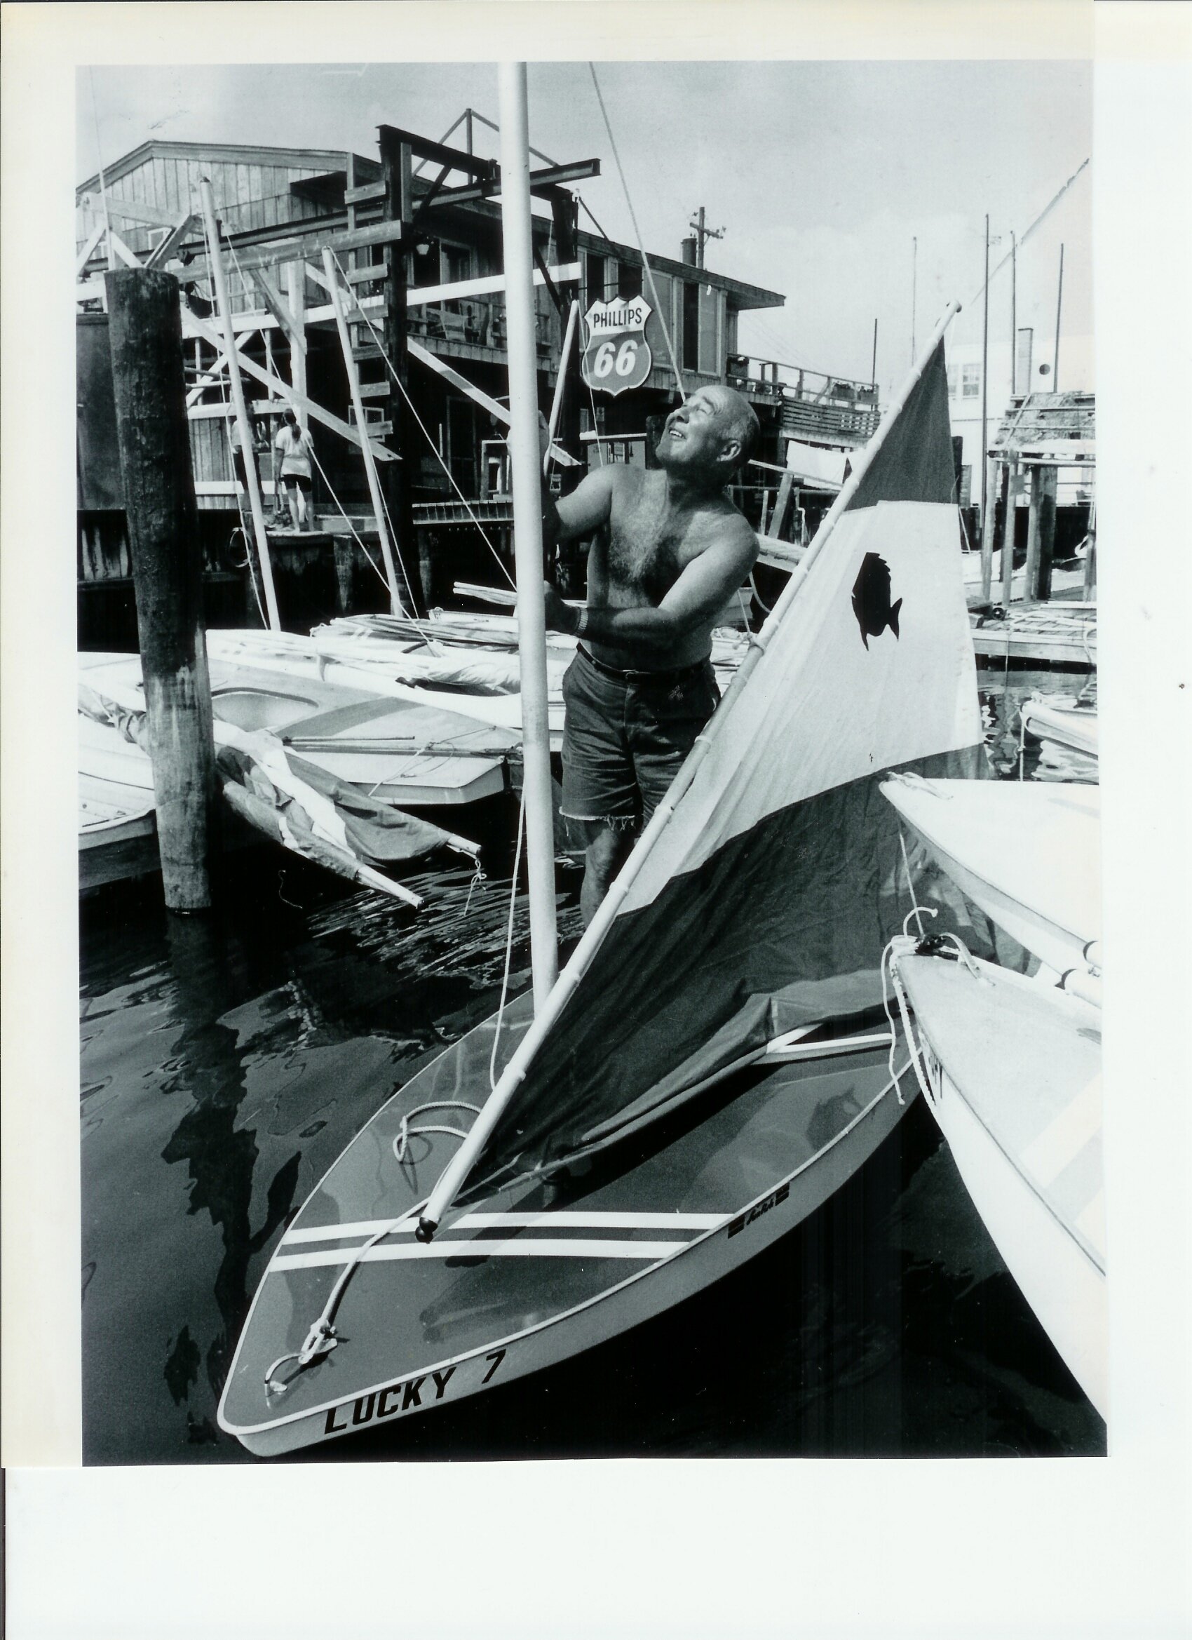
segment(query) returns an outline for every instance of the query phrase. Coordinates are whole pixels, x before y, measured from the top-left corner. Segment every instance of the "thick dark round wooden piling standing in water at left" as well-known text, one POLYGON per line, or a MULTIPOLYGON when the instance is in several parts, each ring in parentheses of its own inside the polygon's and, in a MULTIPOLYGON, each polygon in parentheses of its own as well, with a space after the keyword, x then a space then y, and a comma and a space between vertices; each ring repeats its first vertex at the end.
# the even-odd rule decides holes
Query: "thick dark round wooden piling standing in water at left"
POLYGON ((179 284, 148 267, 105 276, 116 440, 166 905, 212 904, 212 687, 190 467, 179 284))

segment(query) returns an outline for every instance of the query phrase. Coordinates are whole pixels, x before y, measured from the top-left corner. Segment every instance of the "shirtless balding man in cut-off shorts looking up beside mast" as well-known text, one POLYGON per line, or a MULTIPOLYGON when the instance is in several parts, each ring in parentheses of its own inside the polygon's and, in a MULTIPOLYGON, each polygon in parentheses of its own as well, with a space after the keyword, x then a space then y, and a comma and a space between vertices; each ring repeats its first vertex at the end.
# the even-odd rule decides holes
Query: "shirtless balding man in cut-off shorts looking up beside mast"
POLYGON ((585 828, 585 923, 720 699, 712 626, 758 556, 723 490, 756 440, 739 394, 700 387, 667 417, 656 469, 602 467, 548 508, 548 546, 594 536, 587 605, 546 587, 548 628, 580 640, 562 682, 562 813, 585 828))

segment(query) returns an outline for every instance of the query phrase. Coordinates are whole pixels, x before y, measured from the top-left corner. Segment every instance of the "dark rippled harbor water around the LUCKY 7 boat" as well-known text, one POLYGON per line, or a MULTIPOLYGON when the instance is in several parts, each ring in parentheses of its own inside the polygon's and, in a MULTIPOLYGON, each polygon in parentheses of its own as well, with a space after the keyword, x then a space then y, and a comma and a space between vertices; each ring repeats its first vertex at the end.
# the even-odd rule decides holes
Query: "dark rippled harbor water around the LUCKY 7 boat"
MULTIPOLYGON (((1040 679, 1082 682, 982 674, 1005 774, 1017 699, 1040 679)), ((215 1420, 253 1292, 362 1122, 495 1009, 508 815, 477 817, 487 881, 407 877, 418 913, 264 850, 234 861, 210 918, 167 917, 152 881, 82 904, 85 1461, 253 1461, 215 1420)), ((574 936, 579 876, 559 881, 574 936)), ((548 1373, 295 1461, 1103 1451, 917 1100, 843 1191, 718 1286, 548 1373)))

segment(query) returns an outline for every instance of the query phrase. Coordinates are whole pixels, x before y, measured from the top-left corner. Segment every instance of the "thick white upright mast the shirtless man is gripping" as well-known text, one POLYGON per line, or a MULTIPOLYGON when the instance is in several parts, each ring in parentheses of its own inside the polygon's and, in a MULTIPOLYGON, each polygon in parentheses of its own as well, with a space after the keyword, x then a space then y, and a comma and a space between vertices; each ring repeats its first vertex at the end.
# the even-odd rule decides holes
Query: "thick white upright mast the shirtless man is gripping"
POLYGON ((513 474, 513 554, 521 658, 521 754, 525 759, 526 863, 530 872, 530 954, 535 1010, 557 974, 554 922, 554 825, 551 745, 546 718, 546 608, 543 599, 543 469, 538 454, 538 366, 535 341, 535 259, 530 212, 530 130, 526 66, 502 62, 500 197, 508 326, 510 467, 513 474))

